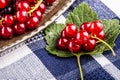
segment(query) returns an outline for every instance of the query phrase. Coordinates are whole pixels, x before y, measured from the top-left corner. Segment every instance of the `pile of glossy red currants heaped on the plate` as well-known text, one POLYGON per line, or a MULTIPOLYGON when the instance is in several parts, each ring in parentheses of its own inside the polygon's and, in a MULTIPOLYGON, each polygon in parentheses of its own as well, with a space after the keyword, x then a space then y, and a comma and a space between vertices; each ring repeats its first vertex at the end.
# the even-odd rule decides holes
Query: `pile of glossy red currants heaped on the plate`
POLYGON ((48 4, 55 0, 0 0, 0 38, 35 29, 48 4))

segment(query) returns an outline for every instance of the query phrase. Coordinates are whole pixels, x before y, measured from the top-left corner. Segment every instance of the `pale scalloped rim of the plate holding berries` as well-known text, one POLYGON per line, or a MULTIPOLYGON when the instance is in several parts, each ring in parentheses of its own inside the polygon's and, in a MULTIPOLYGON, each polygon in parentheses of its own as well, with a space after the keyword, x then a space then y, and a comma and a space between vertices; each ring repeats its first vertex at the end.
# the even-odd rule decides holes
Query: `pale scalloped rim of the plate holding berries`
POLYGON ((52 16, 48 21, 45 22, 45 24, 38 26, 36 32, 31 32, 30 35, 24 36, 22 39, 17 40, 15 43, 10 43, 6 46, 3 46, 0 48, 0 52, 5 51, 8 48, 11 48, 19 43, 22 43, 23 41, 33 37, 34 35, 36 35, 37 33, 39 33, 40 31, 42 31, 43 29, 47 28, 48 25, 50 25, 51 23, 53 23, 60 15, 62 15, 73 3, 75 2, 75 0, 68 0, 67 4, 65 4, 62 9, 58 10, 58 12, 52 16))

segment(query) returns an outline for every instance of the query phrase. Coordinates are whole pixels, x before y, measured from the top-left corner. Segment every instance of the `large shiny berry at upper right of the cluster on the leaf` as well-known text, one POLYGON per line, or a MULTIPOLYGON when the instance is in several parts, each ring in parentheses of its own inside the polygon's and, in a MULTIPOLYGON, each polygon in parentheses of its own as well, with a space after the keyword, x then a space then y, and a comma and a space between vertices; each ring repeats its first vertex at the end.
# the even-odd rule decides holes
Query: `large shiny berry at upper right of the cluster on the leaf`
POLYGON ((103 30, 103 25, 100 21, 93 21, 89 30, 92 34, 98 34, 103 30))

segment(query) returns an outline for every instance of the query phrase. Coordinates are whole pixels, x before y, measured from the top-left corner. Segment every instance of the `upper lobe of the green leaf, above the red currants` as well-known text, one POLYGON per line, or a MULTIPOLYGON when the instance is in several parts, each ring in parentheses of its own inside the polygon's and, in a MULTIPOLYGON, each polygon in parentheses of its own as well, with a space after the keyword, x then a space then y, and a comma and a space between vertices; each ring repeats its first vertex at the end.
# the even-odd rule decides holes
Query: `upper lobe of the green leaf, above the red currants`
POLYGON ((83 22, 92 22, 93 20, 98 20, 98 15, 86 3, 82 3, 68 14, 66 24, 74 23, 80 26, 83 22))

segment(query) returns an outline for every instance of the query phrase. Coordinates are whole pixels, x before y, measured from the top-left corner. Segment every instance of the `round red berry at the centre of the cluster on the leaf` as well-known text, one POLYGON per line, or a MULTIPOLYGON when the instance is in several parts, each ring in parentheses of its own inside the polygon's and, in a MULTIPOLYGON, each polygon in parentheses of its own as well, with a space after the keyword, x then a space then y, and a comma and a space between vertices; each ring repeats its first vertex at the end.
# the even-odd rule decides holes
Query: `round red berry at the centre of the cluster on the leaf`
POLYGON ((87 31, 85 30, 80 30, 77 35, 76 35, 76 41, 78 42, 78 44, 85 44, 90 38, 90 35, 87 31))

